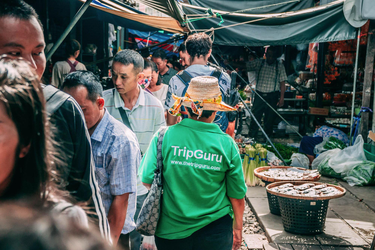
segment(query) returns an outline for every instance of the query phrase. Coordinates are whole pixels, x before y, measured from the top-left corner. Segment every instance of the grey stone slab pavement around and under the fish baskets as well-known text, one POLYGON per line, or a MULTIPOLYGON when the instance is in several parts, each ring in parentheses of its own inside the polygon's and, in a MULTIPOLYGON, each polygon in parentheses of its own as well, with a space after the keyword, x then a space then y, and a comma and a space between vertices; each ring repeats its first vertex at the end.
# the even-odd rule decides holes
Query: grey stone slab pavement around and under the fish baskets
POLYGON ((375 212, 370 208, 375 201, 375 187, 346 187, 335 179, 325 177, 320 182, 342 185, 347 189, 347 194, 330 201, 324 232, 315 236, 285 232, 281 216, 270 213, 265 187, 248 187, 246 200, 269 242, 278 244, 277 250, 368 248, 375 232, 375 212), (366 200, 370 206, 360 199, 366 200), (293 248, 293 245, 299 246, 293 248))

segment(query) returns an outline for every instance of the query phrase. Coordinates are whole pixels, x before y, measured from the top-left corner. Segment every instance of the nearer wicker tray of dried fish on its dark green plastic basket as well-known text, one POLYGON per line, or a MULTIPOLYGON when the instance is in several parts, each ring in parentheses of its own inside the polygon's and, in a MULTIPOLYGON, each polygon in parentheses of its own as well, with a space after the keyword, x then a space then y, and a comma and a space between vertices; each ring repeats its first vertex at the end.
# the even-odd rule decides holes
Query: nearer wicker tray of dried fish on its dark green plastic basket
POLYGON ((314 235, 321 233, 326 222, 328 202, 345 195, 342 187, 318 182, 276 182, 267 193, 276 195, 285 231, 314 235))

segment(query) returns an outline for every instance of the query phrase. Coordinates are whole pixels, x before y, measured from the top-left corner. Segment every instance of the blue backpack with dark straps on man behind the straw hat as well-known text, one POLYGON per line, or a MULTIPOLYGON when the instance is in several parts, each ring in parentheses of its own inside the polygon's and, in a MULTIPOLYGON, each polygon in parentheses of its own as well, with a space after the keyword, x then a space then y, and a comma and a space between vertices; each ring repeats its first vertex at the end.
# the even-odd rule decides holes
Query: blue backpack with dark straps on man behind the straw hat
MULTIPOLYGON (((176 74, 176 76, 181 80, 181 82, 183 82, 185 84, 185 88, 182 92, 182 96, 185 96, 186 91, 187 91, 187 87, 189 86, 190 80, 193 77, 185 70, 182 70, 182 71, 178 72, 176 74)), ((221 77, 223 76, 223 71, 218 69, 218 68, 214 68, 214 70, 211 72, 210 76, 213 76, 213 77, 217 78, 217 80, 220 82, 221 77)), ((224 91, 224 89, 220 85, 219 85, 219 87, 220 87, 220 92, 221 92, 221 95, 222 95, 223 101, 224 101, 226 96, 227 96, 226 92, 224 91)), ((180 112, 181 112, 182 117, 184 119, 187 118, 187 111, 186 111, 184 106, 181 107, 180 112)), ((218 111, 213 123, 217 124, 220 127, 220 129, 223 132, 225 132, 228 128, 228 117, 227 117, 226 112, 218 111)))

